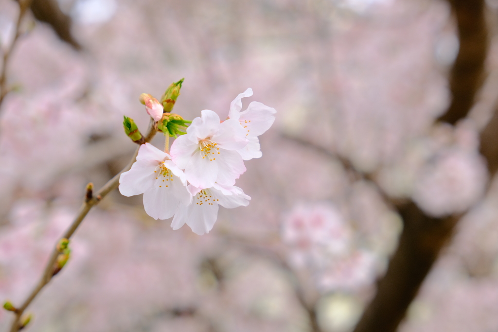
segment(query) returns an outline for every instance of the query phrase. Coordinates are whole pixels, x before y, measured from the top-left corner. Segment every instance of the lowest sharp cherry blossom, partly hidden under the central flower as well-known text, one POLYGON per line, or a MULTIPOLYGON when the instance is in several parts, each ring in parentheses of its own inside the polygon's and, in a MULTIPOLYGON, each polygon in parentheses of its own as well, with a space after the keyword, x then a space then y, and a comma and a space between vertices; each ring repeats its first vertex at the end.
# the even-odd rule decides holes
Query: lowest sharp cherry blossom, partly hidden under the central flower
POLYGON ((215 183, 209 189, 196 188, 193 185, 187 188, 193 196, 192 203, 178 205, 171 221, 173 229, 179 229, 186 223, 194 233, 203 235, 213 228, 218 217, 218 205, 227 209, 249 205, 250 197, 239 187, 215 183))

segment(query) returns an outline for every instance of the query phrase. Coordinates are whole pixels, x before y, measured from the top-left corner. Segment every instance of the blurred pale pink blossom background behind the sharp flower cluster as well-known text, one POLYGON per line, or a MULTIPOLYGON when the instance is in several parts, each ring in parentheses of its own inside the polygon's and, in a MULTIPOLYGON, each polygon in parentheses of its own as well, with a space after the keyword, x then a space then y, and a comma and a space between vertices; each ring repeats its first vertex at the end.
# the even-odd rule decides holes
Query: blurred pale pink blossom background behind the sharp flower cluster
MULTIPOLYGON (((469 93, 455 94, 458 2, 59 0, 65 41, 28 11, 0 105, 0 300, 23 301, 86 184, 127 164, 123 115, 143 131, 149 121, 138 96, 184 77, 174 111, 185 118, 224 118, 249 87, 245 107, 277 110, 263 157, 237 181, 249 206, 221 208, 198 236, 113 192, 29 308, 29 331, 353 331, 385 294, 377 282, 409 216, 454 222, 399 331, 498 330, 496 165, 481 144, 498 133, 498 2, 475 1, 485 40, 471 35, 467 60, 480 41, 487 53, 464 70, 480 79, 455 119, 452 94, 469 93)), ((17 15, 0 0, 4 50, 17 15)), ((152 143, 163 148, 161 135, 152 143)), ((0 331, 11 316, 0 312, 0 331)))

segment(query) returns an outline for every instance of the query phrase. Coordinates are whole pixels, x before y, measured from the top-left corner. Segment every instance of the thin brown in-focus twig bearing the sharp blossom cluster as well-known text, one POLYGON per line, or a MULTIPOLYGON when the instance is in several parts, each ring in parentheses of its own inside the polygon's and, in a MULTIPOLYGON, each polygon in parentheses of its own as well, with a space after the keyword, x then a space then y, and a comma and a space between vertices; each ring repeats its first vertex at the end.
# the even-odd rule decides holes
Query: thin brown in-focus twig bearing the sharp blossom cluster
MULTIPOLYGON (((154 137, 156 130, 153 127, 154 121, 151 120, 149 124, 149 129, 148 132, 145 136, 145 141, 149 142, 152 137, 154 137)), ((74 221, 71 223, 71 225, 66 229, 64 234, 57 239, 56 244, 54 245, 54 249, 52 250, 52 253, 50 255, 50 258, 45 266, 45 269, 42 273, 42 276, 36 284, 36 286, 33 288, 29 296, 27 297, 26 300, 22 303, 20 307, 18 307, 17 311, 15 312, 15 317, 14 320, 12 321, 12 325, 10 327, 10 332, 17 332, 19 331, 20 323, 19 320, 26 310, 26 308, 31 304, 31 302, 34 300, 34 298, 40 293, 40 291, 47 285, 50 280, 52 279, 54 275, 54 264, 57 261, 57 256, 59 255, 59 250, 57 249, 57 243, 59 243, 60 239, 66 238, 70 239, 71 236, 74 234, 78 226, 81 224, 81 222, 85 219, 87 216, 88 212, 95 206, 97 205, 102 199, 104 199, 107 194, 109 194, 111 191, 116 189, 119 185, 119 179, 120 176, 123 172, 126 172, 131 168, 131 165, 136 160, 136 156, 138 154, 138 149, 139 147, 136 148, 135 153, 131 157, 131 160, 129 161, 128 165, 124 167, 124 169, 116 174, 111 180, 109 180, 104 187, 102 187, 98 192, 97 195, 92 195, 92 198, 89 199, 88 201, 84 201, 82 206, 80 207, 80 210, 78 211, 78 214, 76 215, 74 221)))

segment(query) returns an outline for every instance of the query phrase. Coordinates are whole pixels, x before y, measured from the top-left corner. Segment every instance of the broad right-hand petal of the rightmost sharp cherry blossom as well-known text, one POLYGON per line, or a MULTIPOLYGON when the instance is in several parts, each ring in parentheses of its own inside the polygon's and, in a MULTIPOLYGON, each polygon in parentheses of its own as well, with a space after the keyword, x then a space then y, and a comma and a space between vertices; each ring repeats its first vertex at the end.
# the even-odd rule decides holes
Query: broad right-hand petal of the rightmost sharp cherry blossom
POLYGON ((246 111, 241 112, 239 121, 248 136, 259 136, 268 130, 275 121, 275 109, 258 102, 252 102, 246 111))

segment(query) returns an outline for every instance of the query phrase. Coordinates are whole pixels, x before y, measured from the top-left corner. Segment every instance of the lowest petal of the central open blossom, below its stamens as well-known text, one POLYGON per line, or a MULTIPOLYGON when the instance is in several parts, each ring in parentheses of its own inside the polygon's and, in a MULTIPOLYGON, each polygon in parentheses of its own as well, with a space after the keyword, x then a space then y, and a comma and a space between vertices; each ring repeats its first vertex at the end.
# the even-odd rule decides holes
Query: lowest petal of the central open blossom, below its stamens
POLYGON ((203 157, 201 151, 197 151, 192 158, 190 158, 187 167, 185 167, 185 176, 187 177, 187 181, 194 187, 202 189, 211 188, 218 176, 217 160, 209 160, 208 157, 203 157))

